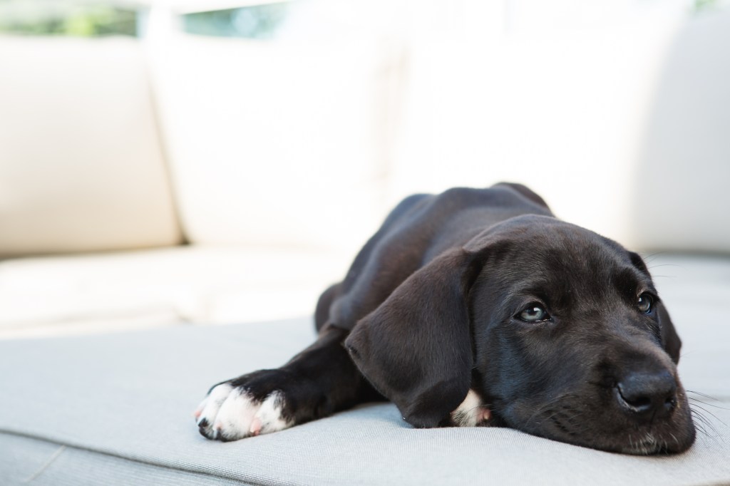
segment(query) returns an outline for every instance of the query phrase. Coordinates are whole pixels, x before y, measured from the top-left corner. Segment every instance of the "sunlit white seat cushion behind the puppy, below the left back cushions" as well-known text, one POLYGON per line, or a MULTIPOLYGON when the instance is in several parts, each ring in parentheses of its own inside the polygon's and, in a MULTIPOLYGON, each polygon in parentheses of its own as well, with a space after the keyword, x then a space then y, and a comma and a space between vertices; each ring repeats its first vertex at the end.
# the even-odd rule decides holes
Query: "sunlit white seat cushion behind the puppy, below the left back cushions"
POLYGON ((307 315, 350 258, 197 246, 0 261, 0 338, 307 315))

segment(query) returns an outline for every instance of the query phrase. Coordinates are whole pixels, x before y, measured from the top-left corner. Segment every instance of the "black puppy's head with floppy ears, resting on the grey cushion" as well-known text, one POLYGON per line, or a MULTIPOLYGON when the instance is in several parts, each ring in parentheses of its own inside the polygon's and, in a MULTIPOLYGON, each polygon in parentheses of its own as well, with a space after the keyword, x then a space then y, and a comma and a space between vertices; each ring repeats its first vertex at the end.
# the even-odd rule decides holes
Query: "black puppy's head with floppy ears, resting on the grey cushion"
POLYGON ((601 450, 694 441, 680 339, 642 259, 552 217, 499 223, 412 274, 345 342, 416 427, 475 388, 496 425, 601 450))

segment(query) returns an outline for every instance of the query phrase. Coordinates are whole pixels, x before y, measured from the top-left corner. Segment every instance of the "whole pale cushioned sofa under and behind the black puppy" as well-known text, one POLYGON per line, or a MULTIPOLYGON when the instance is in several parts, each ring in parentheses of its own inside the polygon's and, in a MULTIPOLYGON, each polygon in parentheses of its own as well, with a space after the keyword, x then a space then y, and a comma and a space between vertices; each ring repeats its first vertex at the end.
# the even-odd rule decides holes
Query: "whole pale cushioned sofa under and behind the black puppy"
POLYGON ((730 15, 653 20, 488 45, 0 37, 0 483, 730 484, 730 15), (645 256, 688 452, 417 430, 392 404, 199 435, 210 385, 315 339, 395 201, 499 180, 645 256))

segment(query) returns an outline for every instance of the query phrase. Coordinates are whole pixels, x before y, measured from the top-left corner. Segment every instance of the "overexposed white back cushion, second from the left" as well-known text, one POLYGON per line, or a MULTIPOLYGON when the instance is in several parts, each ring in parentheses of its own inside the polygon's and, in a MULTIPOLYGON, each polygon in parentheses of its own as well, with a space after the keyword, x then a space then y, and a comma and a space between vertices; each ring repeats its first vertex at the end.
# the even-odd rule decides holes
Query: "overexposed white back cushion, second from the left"
POLYGON ((194 36, 157 47, 155 90, 191 242, 363 244, 385 211, 388 47, 194 36))

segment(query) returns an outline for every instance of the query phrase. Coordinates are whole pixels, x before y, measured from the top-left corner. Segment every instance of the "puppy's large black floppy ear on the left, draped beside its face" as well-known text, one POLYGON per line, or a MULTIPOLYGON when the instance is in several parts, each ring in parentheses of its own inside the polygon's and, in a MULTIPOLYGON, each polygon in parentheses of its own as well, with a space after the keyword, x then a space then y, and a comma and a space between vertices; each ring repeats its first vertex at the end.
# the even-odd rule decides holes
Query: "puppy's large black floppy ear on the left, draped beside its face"
POLYGON ((415 427, 448 425, 469 391, 467 299, 481 269, 480 236, 408 277, 345 341, 362 374, 415 427))

